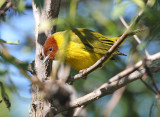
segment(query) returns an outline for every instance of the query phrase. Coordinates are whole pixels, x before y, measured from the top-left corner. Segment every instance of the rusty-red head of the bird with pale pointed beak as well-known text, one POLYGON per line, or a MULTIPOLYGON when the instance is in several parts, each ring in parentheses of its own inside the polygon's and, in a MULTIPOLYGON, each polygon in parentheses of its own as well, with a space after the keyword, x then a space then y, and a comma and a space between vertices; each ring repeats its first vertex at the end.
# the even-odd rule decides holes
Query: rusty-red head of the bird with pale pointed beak
POLYGON ((50 36, 46 40, 46 42, 44 44, 43 51, 44 51, 44 55, 45 55, 45 59, 43 60, 43 63, 45 63, 48 59, 49 60, 55 59, 56 53, 58 51, 58 46, 57 46, 57 42, 53 36, 50 36))

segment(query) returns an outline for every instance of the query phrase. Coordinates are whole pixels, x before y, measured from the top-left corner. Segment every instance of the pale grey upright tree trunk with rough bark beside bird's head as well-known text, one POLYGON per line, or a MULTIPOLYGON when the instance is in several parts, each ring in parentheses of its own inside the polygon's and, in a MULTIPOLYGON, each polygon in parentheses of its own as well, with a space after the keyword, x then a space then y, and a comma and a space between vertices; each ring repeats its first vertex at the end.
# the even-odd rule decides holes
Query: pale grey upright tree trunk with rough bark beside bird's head
MULTIPOLYGON (((39 25, 47 20, 58 17, 59 9, 60 9, 61 0, 44 0, 43 8, 39 8, 32 1, 33 6, 33 14, 35 20, 35 41, 36 41, 36 55, 35 55, 35 69, 37 78, 44 82, 48 79, 52 69, 52 62, 49 61, 43 64, 43 55, 42 49, 45 40, 48 36, 55 32, 56 27, 54 26, 50 30, 46 30, 43 33, 39 33, 39 25)), ((32 104, 31 104, 31 112, 30 117, 44 117, 47 115, 50 103, 42 98, 42 94, 40 93, 40 89, 33 85, 32 86, 32 104)))

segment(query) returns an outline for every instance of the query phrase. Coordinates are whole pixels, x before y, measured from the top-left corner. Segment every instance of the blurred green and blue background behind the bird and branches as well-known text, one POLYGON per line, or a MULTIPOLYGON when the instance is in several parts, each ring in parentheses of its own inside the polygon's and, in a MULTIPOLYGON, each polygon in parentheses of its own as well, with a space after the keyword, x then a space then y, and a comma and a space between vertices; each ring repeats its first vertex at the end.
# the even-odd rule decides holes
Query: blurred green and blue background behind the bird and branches
MULTIPOLYGON (((19 44, 3 45, 9 53, 25 62, 32 62, 35 56, 34 18, 31 0, 11 0, 12 7, 0 19, 0 39, 19 44)), ((58 20, 52 19, 42 23, 41 31, 47 30, 57 20, 57 31, 71 28, 88 28, 109 37, 120 36, 126 30, 119 17, 123 16, 130 24, 138 12, 144 9, 144 14, 134 29, 147 27, 148 33, 138 34, 141 44, 130 38, 120 47, 120 51, 127 56, 116 56, 105 66, 91 73, 86 80, 78 80, 73 85, 78 96, 83 96, 98 88, 104 82, 127 66, 142 59, 144 49, 149 54, 160 50, 160 1, 153 0, 151 7, 145 7, 147 0, 61 0, 58 20)), ((0 1, 0 9, 6 0, 0 1)), ((43 7, 43 0, 34 0, 37 7, 43 7)), ((0 42, 1 43, 1 42, 0 42)), ((2 44, 2 43, 1 43, 2 44)), ((2 46, 0 46, 2 50, 2 46)), ((76 74, 77 71, 71 71, 76 74)), ((160 87, 160 73, 154 74, 157 85, 160 87)), ((151 80, 147 83, 151 86, 151 80)), ((30 81, 19 71, 18 67, 0 57, 0 116, 27 117, 31 103, 30 81), (4 101, 6 98, 6 101, 4 101), (8 103, 11 103, 9 106, 8 103)), ((89 105, 86 109, 89 117, 102 116, 112 95, 105 96, 89 105)), ((159 117, 160 102, 153 92, 148 90, 138 80, 127 85, 126 90, 109 117, 159 117)))

